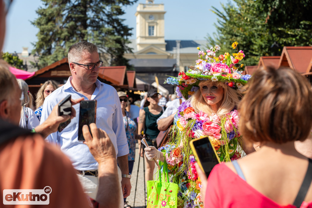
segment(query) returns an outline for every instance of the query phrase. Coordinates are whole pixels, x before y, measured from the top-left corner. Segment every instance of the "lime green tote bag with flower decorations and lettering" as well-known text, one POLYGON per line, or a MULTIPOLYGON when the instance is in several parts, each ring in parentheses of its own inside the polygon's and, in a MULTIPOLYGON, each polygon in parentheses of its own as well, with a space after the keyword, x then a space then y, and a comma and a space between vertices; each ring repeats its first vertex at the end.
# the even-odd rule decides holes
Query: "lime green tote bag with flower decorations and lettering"
POLYGON ((147 196, 147 208, 177 208, 178 184, 169 182, 166 162, 163 174, 159 170, 159 181, 147 181, 147 196))

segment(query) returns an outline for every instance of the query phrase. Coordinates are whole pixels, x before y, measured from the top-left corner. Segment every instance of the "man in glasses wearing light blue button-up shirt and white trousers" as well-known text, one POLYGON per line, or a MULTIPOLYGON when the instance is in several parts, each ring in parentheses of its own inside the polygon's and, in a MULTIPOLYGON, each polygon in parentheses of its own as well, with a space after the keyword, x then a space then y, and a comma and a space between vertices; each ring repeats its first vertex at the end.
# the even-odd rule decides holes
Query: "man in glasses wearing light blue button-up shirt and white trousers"
MULTIPOLYGON (((102 63, 97 47, 89 42, 78 42, 68 50, 68 63, 71 77, 66 84, 46 97, 42 106, 41 123, 43 123, 54 106, 67 95, 72 99, 83 97, 85 100, 97 100, 96 125, 105 130, 110 137, 117 154, 121 189, 123 197, 130 195, 131 184, 128 169, 129 147, 124 129, 122 111, 118 94, 114 87, 100 82, 97 77, 102 63), (123 175, 122 175, 123 174, 123 175), (122 179, 121 179, 122 176, 122 179)), ((79 112, 80 105, 75 105, 79 112)), ((63 131, 47 137, 47 141, 56 143, 71 159, 85 193, 95 198, 98 189, 98 163, 89 151, 88 146, 78 141, 79 116, 71 120, 63 131)), ((60 174, 61 173, 56 173, 60 174)), ((123 206, 123 202, 120 202, 123 206)))

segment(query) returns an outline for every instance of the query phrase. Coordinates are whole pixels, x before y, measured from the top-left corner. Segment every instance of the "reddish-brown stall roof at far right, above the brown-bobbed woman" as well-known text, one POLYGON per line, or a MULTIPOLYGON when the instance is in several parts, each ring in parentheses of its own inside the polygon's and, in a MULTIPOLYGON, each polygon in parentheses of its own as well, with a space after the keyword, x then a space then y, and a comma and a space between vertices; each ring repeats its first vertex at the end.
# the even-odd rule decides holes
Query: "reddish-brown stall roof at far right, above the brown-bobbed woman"
POLYGON ((300 73, 309 73, 311 46, 287 46, 283 48, 279 66, 290 67, 300 73))

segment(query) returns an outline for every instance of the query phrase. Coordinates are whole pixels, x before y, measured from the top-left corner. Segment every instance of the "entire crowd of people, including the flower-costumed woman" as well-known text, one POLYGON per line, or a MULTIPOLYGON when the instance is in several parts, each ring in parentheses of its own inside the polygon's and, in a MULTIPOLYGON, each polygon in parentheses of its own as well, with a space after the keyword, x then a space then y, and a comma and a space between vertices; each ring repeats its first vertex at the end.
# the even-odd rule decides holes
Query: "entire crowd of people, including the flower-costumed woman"
MULTIPOLYGON (((0 50, 10 2, 0 1, 0 50)), ((0 60, 1 189, 51 186, 50 207, 131 208, 126 198, 138 143, 146 181, 155 180, 154 159, 168 165, 169 180, 178 183, 171 205, 178 208, 312 207, 311 83, 285 67, 242 75, 236 64, 244 52, 217 57, 218 50, 206 57, 200 51, 195 67, 167 79, 176 94, 152 88, 140 106, 97 79, 103 62, 90 42, 71 45, 71 76, 62 86, 43 83, 36 109, 27 83, 0 60), (68 95, 72 113, 59 116, 58 103, 68 95), (97 100, 96 124, 83 126, 83 142, 82 100, 97 100), (170 126, 170 140, 159 147, 157 136, 170 126), (208 179, 189 146, 202 136, 222 161, 208 179), (143 138, 149 147, 141 148, 143 138)))

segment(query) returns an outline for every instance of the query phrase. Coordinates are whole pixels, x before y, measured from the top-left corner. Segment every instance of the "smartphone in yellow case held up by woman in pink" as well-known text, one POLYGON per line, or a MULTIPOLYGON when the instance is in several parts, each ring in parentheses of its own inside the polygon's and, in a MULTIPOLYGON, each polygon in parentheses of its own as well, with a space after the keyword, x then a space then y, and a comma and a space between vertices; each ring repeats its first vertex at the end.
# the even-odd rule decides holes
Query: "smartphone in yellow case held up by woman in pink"
POLYGON ((197 159, 198 165, 208 177, 212 168, 220 163, 220 159, 210 139, 208 136, 193 139, 190 141, 190 146, 197 159))

